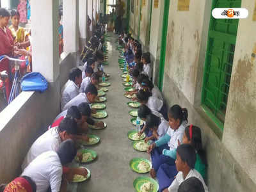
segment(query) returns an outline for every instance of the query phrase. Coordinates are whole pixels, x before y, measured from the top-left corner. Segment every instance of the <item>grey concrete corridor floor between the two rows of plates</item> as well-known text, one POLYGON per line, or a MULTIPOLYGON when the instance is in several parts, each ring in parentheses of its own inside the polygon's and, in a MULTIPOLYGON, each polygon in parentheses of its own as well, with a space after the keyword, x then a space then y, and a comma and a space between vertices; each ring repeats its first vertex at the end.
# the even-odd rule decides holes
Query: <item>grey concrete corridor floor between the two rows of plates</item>
MULTIPOLYGON (((109 65, 104 70, 109 73, 106 102, 108 117, 104 122, 108 125, 103 130, 91 130, 90 133, 100 137, 99 145, 92 148, 98 154, 98 159, 90 164, 86 164, 92 177, 80 184, 70 184, 69 191, 112 191, 125 192, 135 191, 133 181, 139 176, 149 176, 149 174, 139 174, 132 172, 129 161, 134 157, 144 157, 149 159, 146 152, 138 152, 132 148, 132 141, 127 138, 127 132, 135 129, 131 124, 127 106, 129 99, 124 97, 124 86, 120 68, 118 67, 118 52, 116 51, 116 35, 112 35, 112 42, 108 42, 109 65)), ((76 164, 77 166, 78 164, 76 164)), ((81 165, 80 165, 81 166, 81 165)), ((83 165, 84 166, 84 165, 83 165)))

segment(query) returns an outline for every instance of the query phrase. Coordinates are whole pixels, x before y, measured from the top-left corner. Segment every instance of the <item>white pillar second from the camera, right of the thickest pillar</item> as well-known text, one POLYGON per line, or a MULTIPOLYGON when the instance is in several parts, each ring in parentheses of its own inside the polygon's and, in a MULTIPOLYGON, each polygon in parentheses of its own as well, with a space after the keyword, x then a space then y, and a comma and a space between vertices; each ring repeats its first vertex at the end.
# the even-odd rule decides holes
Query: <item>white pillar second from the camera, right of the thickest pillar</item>
POLYGON ((78 4, 78 0, 63 0, 63 40, 67 54, 79 49, 78 4))

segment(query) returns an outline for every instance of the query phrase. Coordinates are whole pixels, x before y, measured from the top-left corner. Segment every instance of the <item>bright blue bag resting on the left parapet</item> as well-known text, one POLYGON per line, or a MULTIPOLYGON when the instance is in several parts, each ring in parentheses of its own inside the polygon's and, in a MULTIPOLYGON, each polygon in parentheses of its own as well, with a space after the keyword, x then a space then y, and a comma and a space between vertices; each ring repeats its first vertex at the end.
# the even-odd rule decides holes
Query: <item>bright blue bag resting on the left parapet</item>
POLYGON ((20 87, 23 92, 44 92, 48 88, 48 82, 40 73, 30 72, 22 77, 20 87))

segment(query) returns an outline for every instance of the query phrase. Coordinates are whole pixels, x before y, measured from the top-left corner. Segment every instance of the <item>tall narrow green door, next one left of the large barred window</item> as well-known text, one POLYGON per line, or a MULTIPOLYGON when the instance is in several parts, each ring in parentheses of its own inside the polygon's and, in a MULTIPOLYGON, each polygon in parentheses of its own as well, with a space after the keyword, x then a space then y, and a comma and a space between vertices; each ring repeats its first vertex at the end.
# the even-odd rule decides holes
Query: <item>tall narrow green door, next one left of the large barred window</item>
POLYGON ((170 0, 164 0, 163 29, 162 29, 159 77, 158 77, 158 87, 160 90, 163 90, 164 62, 165 62, 165 53, 166 53, 166 36, 167 36, 167 30, 168 30, 169 6, 170 6, 170 0))

